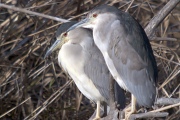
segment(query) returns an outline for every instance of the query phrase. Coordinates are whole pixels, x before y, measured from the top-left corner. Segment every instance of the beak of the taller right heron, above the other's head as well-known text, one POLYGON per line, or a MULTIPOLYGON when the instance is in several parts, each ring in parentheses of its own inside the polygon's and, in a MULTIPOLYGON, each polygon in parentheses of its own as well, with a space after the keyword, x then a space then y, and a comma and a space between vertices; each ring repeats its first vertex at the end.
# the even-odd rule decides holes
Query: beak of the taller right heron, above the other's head
POLYGON ((71 26, 71 27, 67 30, 67 32, 68 32, 68 31, 71 31, 71 30, 73 30, 73 29, 75 29, 75 28, 79 28, 79 27, 90 28, 89 25, 90 25, 90 19, 89 19, 89 18, 85 18, 84 20, 82 20, 82 21, 74 24, 73 26, 71 26))

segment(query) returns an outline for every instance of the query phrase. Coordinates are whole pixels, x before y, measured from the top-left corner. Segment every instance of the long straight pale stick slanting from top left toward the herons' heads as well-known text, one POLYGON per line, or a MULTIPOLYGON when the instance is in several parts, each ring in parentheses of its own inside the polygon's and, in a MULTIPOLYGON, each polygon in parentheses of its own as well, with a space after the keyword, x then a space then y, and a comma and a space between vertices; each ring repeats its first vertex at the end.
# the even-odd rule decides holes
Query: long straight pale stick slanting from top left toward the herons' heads
POLYGON ((10 5, 5 5, 5 4, 2 4, 2 3, 0 3, 0 7, 11 9, 11 10, 14 10, 14 11, 23 12, 23 13, 28 13, 28 14, 31 14, 31 15, 36 15, 36 16, 40 16, 40 17, 44 17, 44 18, 48 18, 48 19, 52 19, 52 20, 59 21, 59 22, 68 22, 68 20, 66 20, 66 19, 53 17, 53 16, 50 16, 50 15, 45 15, 45 14, 41 14, 41 13, 37 13, 37 12, 32 12, 32 11, 29 11, 29 10, 26 10, 26 9, 23 9, 23 8, 18 8, 18 7, 14 7, 14 6, 10 6, 10 5))

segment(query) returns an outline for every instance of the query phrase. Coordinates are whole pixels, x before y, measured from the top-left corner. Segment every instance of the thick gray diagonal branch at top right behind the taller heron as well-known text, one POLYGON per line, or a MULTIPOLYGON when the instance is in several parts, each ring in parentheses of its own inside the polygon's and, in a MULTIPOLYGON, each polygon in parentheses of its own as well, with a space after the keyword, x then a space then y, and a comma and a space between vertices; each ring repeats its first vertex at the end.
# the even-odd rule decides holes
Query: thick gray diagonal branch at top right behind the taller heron
POLYGON ((170 0, 149 22, 145 31, 149 39, 162 20, 176 7, 180 0, 170 0))

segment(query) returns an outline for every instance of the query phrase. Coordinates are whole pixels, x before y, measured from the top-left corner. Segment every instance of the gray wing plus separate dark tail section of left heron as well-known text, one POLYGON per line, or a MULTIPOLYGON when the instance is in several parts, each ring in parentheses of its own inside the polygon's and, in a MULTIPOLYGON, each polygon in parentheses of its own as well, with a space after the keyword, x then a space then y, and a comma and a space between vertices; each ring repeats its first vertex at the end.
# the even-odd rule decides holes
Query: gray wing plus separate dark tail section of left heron
MULTIPOLYGON (((109 102, 109 87, 111 77, 103 55, 100 50, 94 45, 94 43, 92 44, 92 47, 88 50, 88 52, 89 57, 86 61, 87 64, 84 66, 85 73, 92 80, 101 95, 106 98, 107 102, 109 102)), ((118 109, 124 109, 126 105, 125 93, 116 81, 114 83, 114 94, 115 101, 120 105, 118 109)))

